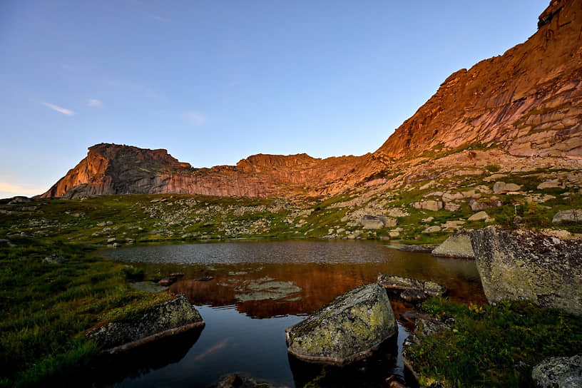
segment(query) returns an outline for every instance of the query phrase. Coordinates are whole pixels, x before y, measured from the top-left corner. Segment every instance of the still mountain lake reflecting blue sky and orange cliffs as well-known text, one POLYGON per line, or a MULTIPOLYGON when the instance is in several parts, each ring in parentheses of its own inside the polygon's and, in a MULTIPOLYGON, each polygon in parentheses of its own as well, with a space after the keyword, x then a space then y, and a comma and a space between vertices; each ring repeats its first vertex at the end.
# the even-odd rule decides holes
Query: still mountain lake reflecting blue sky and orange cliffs
MULTIPOLYGON (((170 292, 185 294, 206 322, 203 330, 155 344, 120 360, 116 387, 208 387, 239 372, 286 387, 382 386, 404 379, 400 350, 411 323, 399 319, 397 339, 349 368, 319 367, 287 355, 285 328, 338 295, 375 282, 379 272, 432 280, 460 302, 486 299, 474 262, 403 252, 382 241, 245 240, 143 245, 101 255, 130 262, 148 275, 185 276, 170 292), (209 281, 197 280, 213 277, 209 281)), ((393 302, 397 318, 411 306, 393 302)), ((114 376, 114 377, 113 377, 114 376)))

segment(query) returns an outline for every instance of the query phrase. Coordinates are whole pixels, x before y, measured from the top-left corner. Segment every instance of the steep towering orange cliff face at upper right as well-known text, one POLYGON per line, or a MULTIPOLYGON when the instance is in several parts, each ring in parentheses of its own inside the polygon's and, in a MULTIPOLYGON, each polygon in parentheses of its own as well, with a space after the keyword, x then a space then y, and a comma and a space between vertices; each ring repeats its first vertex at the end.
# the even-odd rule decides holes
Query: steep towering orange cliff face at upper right
POLYGON ((446 78, 374 154, 394 159, 479 143, 513 155, 582 158, 580 2, 553 0, 540 20, 524 44, 446 78))

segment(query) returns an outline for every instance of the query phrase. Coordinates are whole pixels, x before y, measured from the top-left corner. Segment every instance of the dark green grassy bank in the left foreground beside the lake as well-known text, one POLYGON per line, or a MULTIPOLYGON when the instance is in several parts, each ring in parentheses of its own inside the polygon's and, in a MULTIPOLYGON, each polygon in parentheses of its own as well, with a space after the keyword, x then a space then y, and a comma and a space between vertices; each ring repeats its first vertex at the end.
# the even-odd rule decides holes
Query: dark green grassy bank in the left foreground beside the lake
POLYGON ((81 369, 98 353, 86 330, 169 297, 132 290, 131 271, 79 245, 26 238, 10 244, 0 244, 0 387, 42 384, 81 369))

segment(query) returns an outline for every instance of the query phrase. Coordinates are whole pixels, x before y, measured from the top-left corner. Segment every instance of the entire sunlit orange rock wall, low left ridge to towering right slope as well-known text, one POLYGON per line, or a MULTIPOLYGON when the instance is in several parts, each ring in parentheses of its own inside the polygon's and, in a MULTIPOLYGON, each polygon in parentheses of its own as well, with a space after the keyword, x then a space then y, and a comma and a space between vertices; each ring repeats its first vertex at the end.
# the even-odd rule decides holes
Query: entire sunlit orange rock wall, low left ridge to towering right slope
POLYGON ((551 1, 524 44, 446 78, 375 153, 260 154, 195 169, 165 150, 98 144, 41 196, 331 195, 390 179, 475 173, 478 165, 533 170, 563 163, 557 159, 582 160, 582 0, 551 1))

